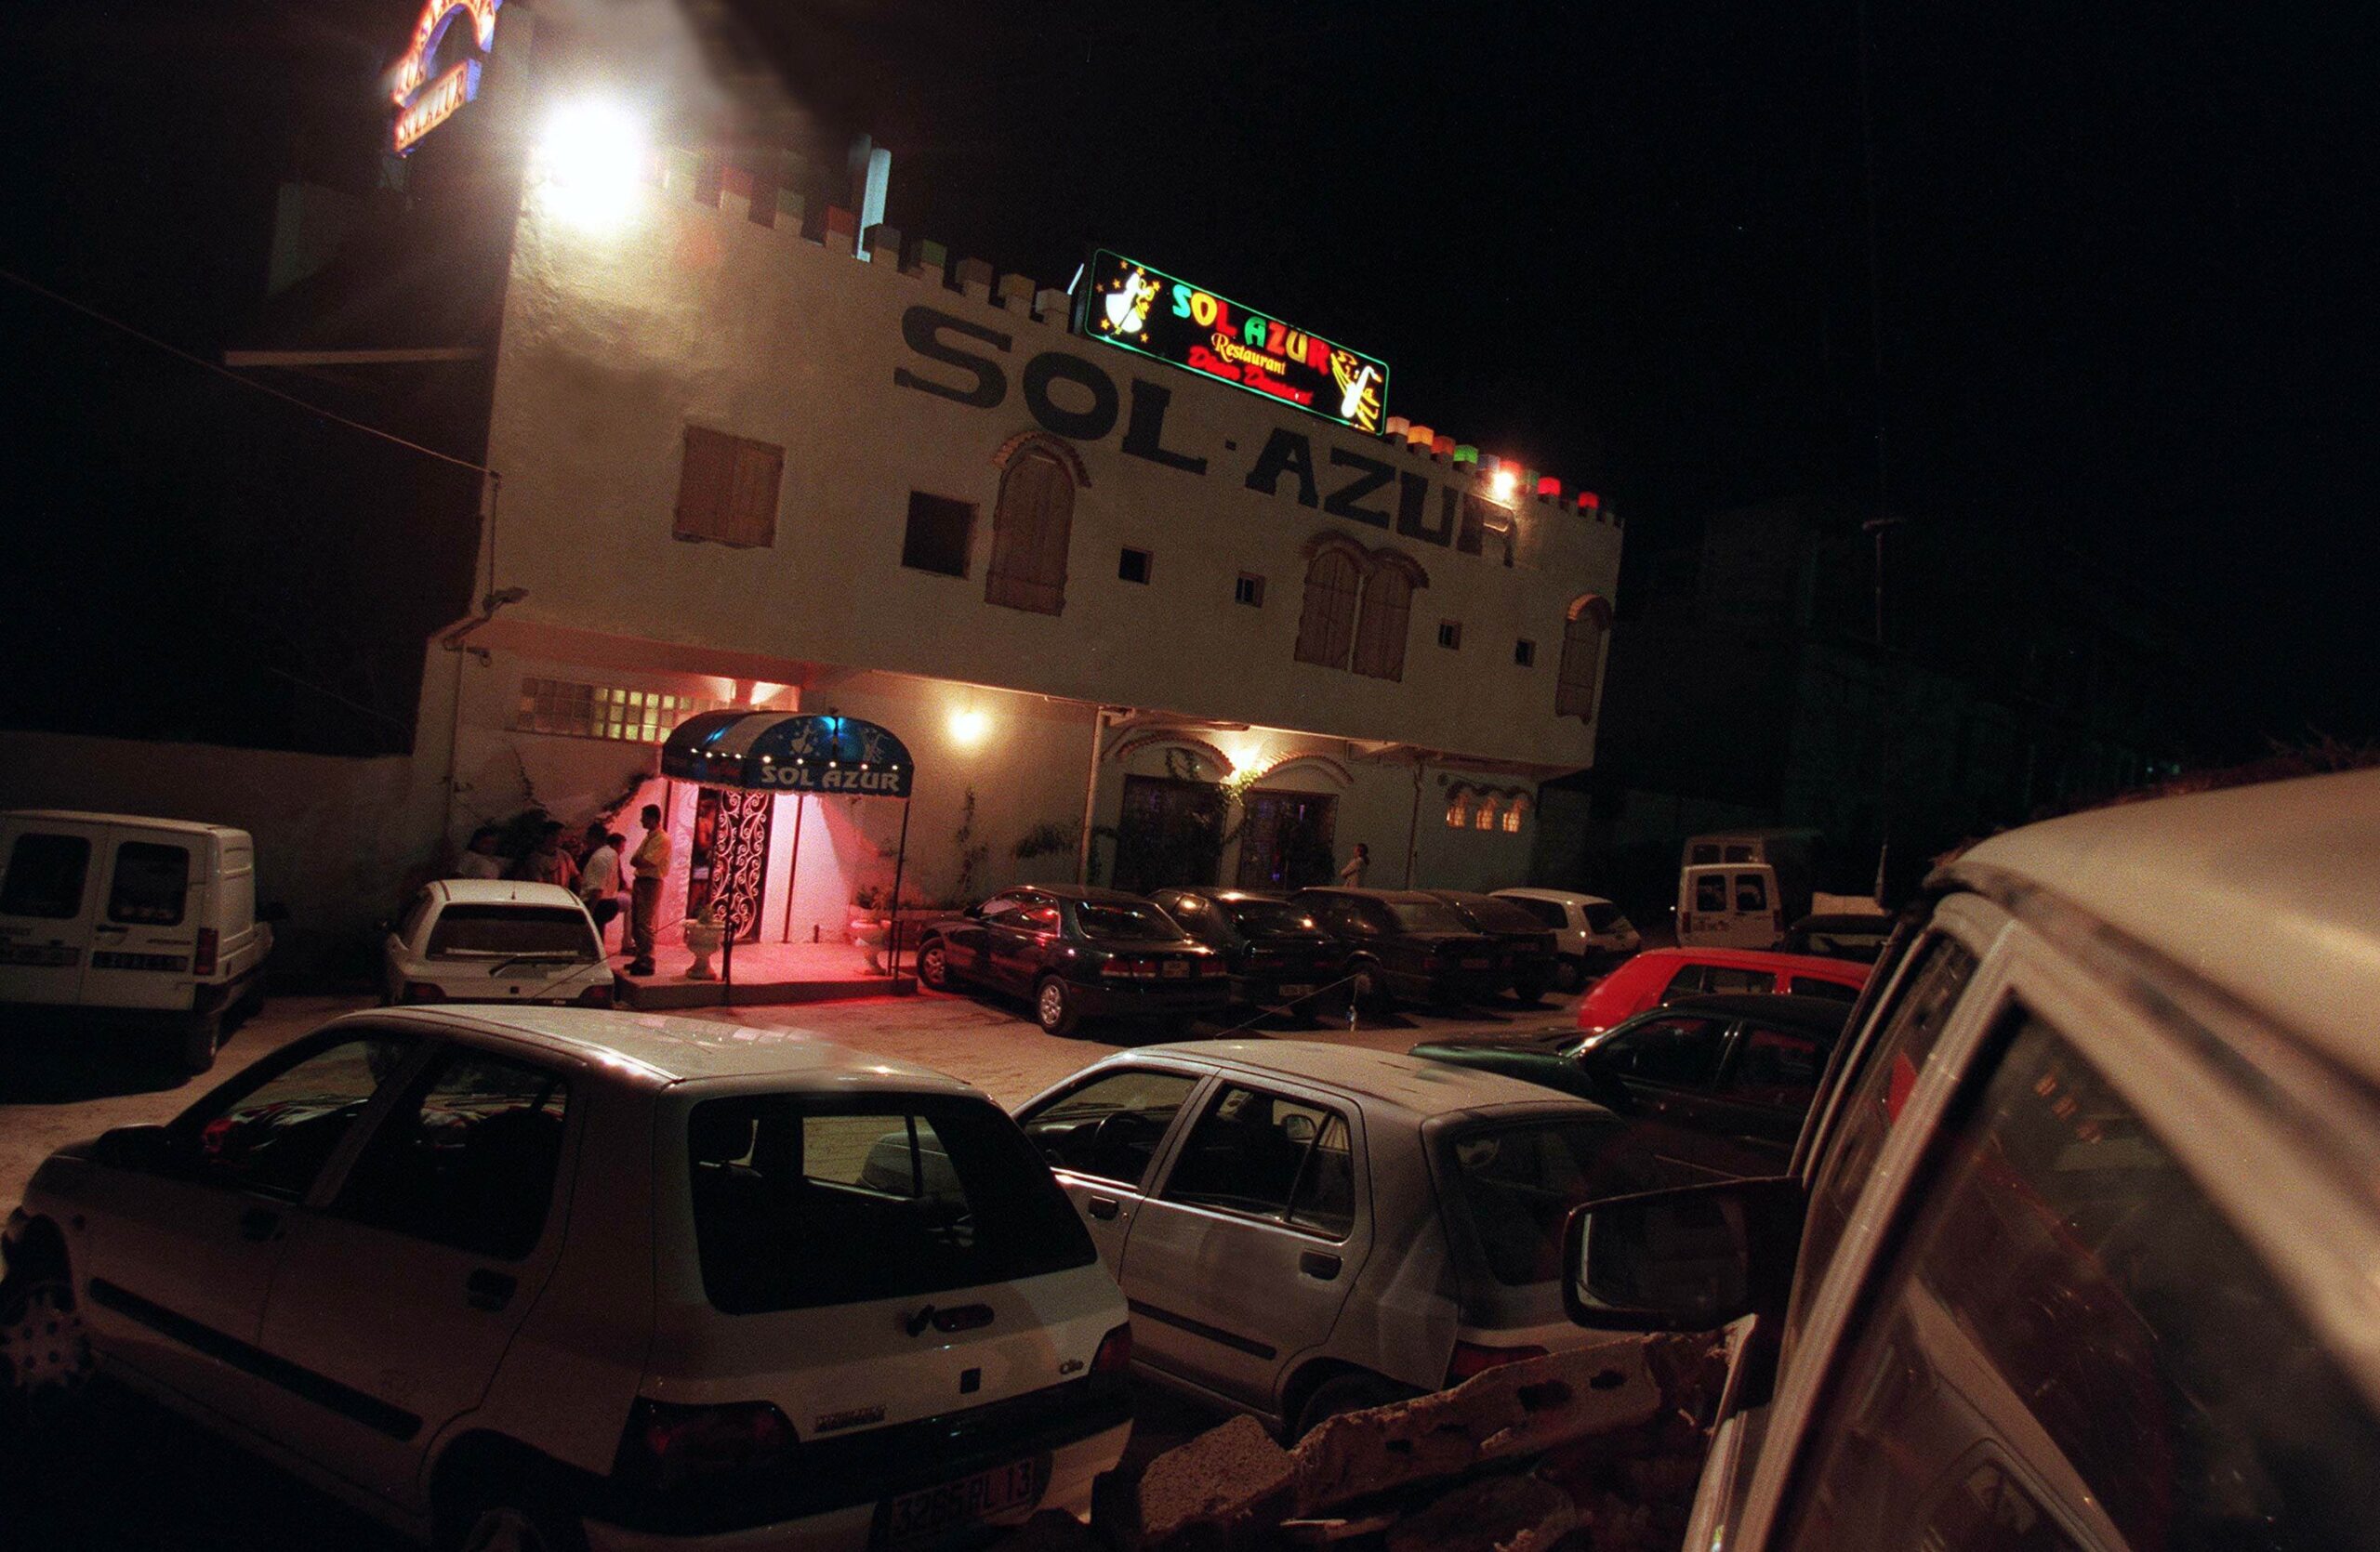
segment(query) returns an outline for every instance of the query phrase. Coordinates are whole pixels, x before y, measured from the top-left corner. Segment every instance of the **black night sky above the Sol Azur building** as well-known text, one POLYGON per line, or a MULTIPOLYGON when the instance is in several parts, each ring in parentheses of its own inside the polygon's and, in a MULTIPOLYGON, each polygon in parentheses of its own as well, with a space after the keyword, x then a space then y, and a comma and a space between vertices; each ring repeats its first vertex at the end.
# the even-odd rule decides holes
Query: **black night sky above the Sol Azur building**
MULTIPOLYGON (((414 10, 24 7, 0 257, 228 340, 248 174, 369 167, 414 10)), ((1637 552, 1825 495, 2059 536, 2175 602, 2225 752, 2380 736, 2375 7, 1875 5, 1873 286, 1852 0, 735 10, 912 236, 1345 338, 1637 552)))

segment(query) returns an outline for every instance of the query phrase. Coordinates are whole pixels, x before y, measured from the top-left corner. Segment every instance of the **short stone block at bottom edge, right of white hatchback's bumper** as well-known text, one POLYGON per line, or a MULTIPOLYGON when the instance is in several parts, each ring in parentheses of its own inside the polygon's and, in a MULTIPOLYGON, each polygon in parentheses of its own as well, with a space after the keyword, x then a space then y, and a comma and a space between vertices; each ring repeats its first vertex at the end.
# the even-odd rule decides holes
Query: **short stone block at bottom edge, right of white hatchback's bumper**
POLYGON ((1092 1523, 1123 1552, 1250 1547, 1271 1540, 1290 1490, 1290 1452, 1235 1416, 1152 1459, 1138 1483, 1102 1478, 1092 1523))

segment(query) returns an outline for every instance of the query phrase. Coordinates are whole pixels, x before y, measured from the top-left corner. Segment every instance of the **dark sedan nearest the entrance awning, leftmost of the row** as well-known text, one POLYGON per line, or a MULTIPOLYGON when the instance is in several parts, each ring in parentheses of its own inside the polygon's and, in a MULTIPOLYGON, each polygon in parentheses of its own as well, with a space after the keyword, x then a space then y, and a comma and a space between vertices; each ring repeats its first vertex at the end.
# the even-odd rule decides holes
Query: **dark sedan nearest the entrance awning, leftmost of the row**
POLYGON ((971 981, 1031 997, 1052 1035, 1083 1019, 1188 1028, 1230 1000, 1223 955, 1140 895, 1073 883, 1002 890, 964 916, 928 924, 916 978, 933 990, 971 981))

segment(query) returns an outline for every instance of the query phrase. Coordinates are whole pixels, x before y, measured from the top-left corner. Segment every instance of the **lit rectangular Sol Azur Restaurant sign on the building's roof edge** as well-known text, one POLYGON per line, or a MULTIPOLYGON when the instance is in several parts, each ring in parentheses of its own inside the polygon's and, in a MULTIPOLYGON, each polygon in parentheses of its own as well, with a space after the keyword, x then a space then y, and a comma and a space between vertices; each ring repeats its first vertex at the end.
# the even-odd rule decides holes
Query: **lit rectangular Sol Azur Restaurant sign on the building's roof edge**
POLYGON ((1083 274, 1073 328, 1357 431, 1378 433, 1388 414, 1388 362, 1104 248, 1083 274))

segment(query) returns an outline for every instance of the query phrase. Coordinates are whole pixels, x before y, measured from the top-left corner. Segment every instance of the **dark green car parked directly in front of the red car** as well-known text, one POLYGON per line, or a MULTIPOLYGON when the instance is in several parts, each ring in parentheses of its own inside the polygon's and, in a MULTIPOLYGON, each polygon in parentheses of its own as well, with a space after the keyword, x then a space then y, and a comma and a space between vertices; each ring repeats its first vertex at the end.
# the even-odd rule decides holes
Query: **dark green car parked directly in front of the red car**
POLYGON ((1416 1057, 1485 1066, 1633 1116, 1664 1178, 1785 1169, 1852 1007, 1833 997, 1685 997, 1614 1024, 1511 1040, 1426 1040, 1416 1057))

